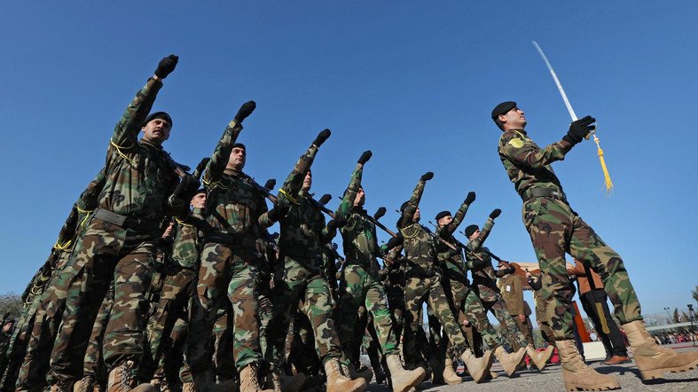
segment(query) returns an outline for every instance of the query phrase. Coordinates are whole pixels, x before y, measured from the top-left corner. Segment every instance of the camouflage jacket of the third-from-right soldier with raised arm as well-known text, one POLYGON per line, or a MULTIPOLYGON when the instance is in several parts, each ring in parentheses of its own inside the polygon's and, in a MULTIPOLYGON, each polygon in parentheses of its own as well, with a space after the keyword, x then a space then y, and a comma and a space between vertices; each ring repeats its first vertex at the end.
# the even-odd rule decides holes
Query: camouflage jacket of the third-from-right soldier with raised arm
POLYGON ((441 269, 436 264, 435 239, 427 229, 412 218, 420 205, 425 184, 426 182, 422 180, 417 183, 412 192, 412 198, 407 202, 407 207, 397 221, 397 229, 404 237, 404 258, 409 265, 407 273, 422 277, 441 273, 441 269))

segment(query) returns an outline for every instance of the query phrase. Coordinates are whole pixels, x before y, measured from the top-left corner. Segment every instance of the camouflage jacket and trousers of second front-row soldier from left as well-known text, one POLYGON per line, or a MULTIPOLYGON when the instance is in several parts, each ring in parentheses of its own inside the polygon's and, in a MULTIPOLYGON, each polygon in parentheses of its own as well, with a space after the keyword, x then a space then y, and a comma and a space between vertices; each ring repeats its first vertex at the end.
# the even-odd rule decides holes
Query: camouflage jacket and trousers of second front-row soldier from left
POLYGON ((186 341, 192 373, 206 372, 209 340, 219 309, 232 304, 235 365, 241 370, 262 359, 259 346, 259 268, 263 263, 261 231, 271 226, 263 195, 251 179, 225 167, 242 125, 231 121, 208 162, 206 219, 211 227, 200 255, 197 295, 186 341), (227 294, 227 295, 226 295, 227 294))

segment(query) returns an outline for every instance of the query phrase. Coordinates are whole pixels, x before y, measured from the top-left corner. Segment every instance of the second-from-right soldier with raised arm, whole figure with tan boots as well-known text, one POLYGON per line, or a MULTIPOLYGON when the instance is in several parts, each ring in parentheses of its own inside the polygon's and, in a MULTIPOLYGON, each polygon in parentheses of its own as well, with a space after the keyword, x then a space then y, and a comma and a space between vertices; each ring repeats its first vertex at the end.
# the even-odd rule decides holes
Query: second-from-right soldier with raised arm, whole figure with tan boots
MULTIPOLYGON (((453 237, 453 233, 463 222, 467 209, 475 200, 475 193, 468 192, 466 200, 460 205, 456 216, 451 216, 451 212, 442 211, 435 216, 437 229, 436 235, 443 241, 451 244, 447 247, 443 242, 436 243, 439 262, 443 266, 444 277, 442 279, 443 289, 449 298, 453 315, 459 315, 463 311, 470 321, 482 333, 490 349, 494 350, 499 363, 504 368, 508 376, 512 376, 516 366, 522 362, 524 351, 508 353, 504 347, 502 339, 497 331, 490 324, 487 318, 487 310, 482 307, 482 303, 474 288, 467 279, 467 261, 463 258, 463 247, 460 242, 453 237), (456 248, 457 250, 453 250, 456 248)), ((445 349, 445 347, 444 347, 445 349)), ((443 365, 443 380, 449 384, 458 384, 462 380, 456 372, 453 372, 453 360, 451 353, 446 354, 443 365)), ((443 357, 443 356, 442 356, 443 357)))

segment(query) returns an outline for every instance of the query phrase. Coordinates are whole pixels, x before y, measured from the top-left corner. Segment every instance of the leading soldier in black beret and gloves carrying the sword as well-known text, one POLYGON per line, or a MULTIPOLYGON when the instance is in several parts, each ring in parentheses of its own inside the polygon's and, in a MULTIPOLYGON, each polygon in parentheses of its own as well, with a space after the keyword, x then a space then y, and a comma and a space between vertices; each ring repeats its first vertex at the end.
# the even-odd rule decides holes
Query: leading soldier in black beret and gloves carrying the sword
POLYGON ((543 271, 544 290, 553 302, 549 314, 566 388, 620 388, 620 384, 615 377, 584 365, 576 350, 569 302, 572 286, 565 268, 565 253, 588 263, 600 274, 643 379, 662 378, 663 372, 683 372, 698 365, 698 352, 677 353, 660 347, 647 333, 623 260, 569 207, 560 180, 550 167, 590 134, 596 120, 586 116, 572 122, 561 141, 540 148, 524 130, 526 117, 515 102, 499 104, 491 117, 503 131, 499 137, 499 159, 522 197, 523 223, 543 271))

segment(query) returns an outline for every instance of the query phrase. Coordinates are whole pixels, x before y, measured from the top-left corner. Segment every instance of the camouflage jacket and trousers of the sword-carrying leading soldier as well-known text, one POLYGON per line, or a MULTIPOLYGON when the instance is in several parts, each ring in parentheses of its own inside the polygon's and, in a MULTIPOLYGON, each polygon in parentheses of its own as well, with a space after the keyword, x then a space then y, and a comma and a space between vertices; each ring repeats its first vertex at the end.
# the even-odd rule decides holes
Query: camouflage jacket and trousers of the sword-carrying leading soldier
POLYGON ((622 324, 642 319, 638 297, 620 255, 569 207, 560 180, 550 167, 554 161, 562 161, 570 149, 564 140, 541 149, 522 129, 506 130, 498 145, 506 174, 524 200, 523 224, 543 271, 543 289, 551 301, 547 311, 556 341, 574 338, 572 284, 565 253, 584 260, 599 273, 622 324))

